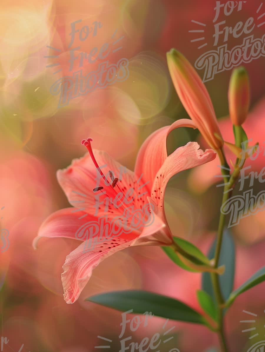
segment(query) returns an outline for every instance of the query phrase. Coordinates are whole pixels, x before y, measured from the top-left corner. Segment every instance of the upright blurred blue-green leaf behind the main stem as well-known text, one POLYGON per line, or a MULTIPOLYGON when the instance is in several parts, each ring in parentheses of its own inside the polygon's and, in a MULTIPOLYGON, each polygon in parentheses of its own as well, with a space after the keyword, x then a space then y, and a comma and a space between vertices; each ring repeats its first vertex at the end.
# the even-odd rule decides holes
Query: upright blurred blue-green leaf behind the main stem
MULTIPOLYGON (((215 248, 216 239, 214 240, 214 243, 208 253, 209 259, 214 258, 215 248)), ((220 265, 225 265, 225 272, 223 275, 219 276, 219 282, 223 298, 224 300, 227 300, 233 290, 235 274, 235 246, 233 237, 230 235, 228 230, 225 230, 223 233, 222 247, 218 266, 220 265)), ((206 291, 215 301, 212 280, 208 272, 204 272, 202 274, 202 289, 203 291, 206 291)))

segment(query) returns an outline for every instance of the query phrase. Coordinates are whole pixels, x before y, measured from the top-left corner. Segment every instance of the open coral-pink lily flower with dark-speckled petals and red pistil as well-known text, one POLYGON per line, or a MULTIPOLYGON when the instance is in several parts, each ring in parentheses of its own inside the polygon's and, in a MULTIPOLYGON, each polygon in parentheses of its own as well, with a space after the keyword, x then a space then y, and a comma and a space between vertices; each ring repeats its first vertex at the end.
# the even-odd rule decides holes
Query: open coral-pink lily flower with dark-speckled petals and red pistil
POLYGON ((67 208, 51 214, 40 227, 33 246, 36 248, 41 237, 82 241, 63 265, 62 284, 67 303, 77 300, 93 269, 111 254, 129 246, 172 244, 172 233, 164 212, 166 184, 178 172, 216 157, 213 150, 203 152, 196 142, 189 142, 168 156, 166 138, 170 131, 181 126, 196 127, 193 121, 182 119, 153 132, 139 150, 134 172, 107 153, 92 150, 91 138, 82 141, 88 149, 86 155, 73 160, 67 169, 57 171, 58 182, 71 205, 76 206, 79 200, 82 208, 79 211, 67 208), (123 170, 122 175, 120 170, 123 170), (95 188, 97 178, 99 183, 95 188), (104 209, 103 201, 107 203, 107 209, 104 209), (126 224, 122 222, 124 214, 129 214, 126 224), (93 244, 89 250, 88 233, 93 244))

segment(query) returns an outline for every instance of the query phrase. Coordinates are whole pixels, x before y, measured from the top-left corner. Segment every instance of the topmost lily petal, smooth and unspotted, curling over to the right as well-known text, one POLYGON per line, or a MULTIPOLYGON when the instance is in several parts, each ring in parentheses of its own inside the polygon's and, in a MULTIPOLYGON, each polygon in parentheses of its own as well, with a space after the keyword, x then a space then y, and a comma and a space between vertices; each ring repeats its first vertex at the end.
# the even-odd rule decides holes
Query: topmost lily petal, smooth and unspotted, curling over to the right
POLYGON ((135 174, 143 175, 144 181, 150 181, 147 185, 149 191, 152 189, 154 178, 168 157, 166 151, 166 138, 169 133, 178 127, 193 127, 195 123, 190 119, 181 119, 173 122, 170 126, 159 128, 153 132, 141 146, 135 163, 135 174))

